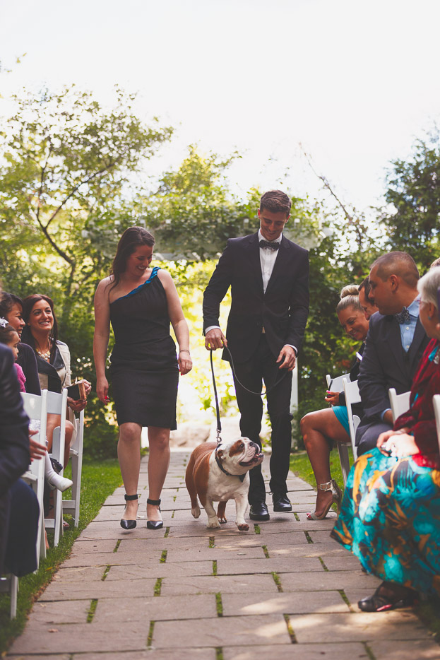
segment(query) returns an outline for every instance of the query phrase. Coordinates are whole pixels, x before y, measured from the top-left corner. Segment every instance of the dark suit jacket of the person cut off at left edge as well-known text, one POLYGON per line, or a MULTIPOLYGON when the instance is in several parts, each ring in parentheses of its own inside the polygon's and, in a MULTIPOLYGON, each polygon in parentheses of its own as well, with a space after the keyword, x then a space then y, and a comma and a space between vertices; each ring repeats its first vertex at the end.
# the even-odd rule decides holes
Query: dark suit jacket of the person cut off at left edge
POLYGON ((0 344, 0 573, 8 529, 9 488, 30 463, 28 425, 12 351, 0 344))

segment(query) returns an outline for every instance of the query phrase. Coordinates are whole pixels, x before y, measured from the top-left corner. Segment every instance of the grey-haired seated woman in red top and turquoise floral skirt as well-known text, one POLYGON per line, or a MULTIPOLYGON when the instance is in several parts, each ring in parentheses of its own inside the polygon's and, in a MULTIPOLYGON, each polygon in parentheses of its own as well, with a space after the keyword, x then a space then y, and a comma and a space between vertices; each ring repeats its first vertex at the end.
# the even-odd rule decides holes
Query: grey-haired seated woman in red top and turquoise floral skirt
POLYGON ((440 596, 440 455, 432 396, 440 393, 440 269, 418 283, 420 320, 431 338, 411 387, 410 409, 348 476, 331 536, 383 579, 359 601, 365 612, 408 605, 417 592, 440 596))

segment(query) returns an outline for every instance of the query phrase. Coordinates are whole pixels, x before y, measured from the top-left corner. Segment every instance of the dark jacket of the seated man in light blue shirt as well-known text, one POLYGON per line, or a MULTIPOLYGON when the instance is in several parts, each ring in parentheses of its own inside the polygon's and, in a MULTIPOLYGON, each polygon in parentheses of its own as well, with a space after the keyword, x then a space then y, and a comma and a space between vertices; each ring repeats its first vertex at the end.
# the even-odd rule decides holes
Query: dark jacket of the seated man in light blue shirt
POLYGON ((396 319, 379 312, 372 315, 357 379, 365 414, 357 429, 357 439, 362 437, 367 425, 381 421, 381 413, 390 408, 390 387, 396 388, 397 394, 411 389, 428 342, 420 319, 417 319, 411 346, 405 353, 396 319))

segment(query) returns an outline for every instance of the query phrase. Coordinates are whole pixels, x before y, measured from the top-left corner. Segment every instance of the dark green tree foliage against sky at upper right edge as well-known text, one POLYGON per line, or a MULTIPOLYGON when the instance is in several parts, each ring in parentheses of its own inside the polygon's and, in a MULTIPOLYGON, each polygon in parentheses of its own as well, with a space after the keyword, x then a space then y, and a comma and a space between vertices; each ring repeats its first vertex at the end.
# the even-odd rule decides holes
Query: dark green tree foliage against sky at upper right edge
POLYGON ((390 249, 410 252, 422 272, 440 257, 440 132, 417 140, 408 161, 395 160, 385 199, 393 211, 382 224, 390 249))

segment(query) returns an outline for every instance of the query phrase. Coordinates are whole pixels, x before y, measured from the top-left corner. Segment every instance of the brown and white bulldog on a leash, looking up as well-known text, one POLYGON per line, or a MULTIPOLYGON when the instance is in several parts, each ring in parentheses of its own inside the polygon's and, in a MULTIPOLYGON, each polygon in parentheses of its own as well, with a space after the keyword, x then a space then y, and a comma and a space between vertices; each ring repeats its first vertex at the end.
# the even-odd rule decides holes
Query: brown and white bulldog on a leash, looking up
POLYGON ((263 454, 247 437, 230 442, 205 442, 192 452, 186 467, 186 488, 191 497, 191 514, 200 516, 197 495, 208 514, 208 528, 226 522, 227 500, 235 500, 237 527, 247 531, 244 520, 249 491, 249 470, 263 462, 263 454), (213 502, 219 502, 217 514, 213 502))

